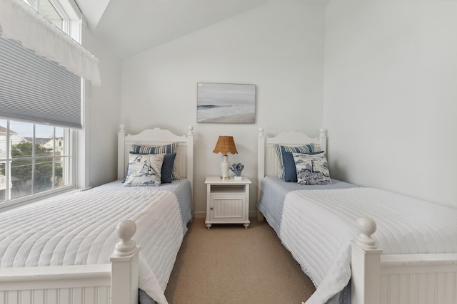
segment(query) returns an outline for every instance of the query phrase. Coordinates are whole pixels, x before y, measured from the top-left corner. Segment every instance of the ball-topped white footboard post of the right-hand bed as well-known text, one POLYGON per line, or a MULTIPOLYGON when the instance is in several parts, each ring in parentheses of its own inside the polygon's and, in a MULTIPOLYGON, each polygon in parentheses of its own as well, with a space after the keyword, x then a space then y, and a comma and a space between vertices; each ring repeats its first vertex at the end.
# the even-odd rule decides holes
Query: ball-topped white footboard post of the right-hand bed
POLYGON ((358 236, 351 241, 351 304, 379 304, 381 296, 381 252, 371 237, 376 223, 357 219, 358 236))

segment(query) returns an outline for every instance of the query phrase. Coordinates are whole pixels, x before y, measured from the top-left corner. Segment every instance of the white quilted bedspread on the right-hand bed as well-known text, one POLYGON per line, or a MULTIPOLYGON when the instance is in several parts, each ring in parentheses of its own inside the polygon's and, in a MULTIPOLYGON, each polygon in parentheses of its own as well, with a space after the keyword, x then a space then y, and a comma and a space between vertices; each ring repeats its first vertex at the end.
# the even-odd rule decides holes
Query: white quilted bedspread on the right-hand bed
POLYGON ((347 285, 360 216, 376 221, 383 253, 457 252, 457 209, 372 188, 290 192, 280 237, 316 285, 306 304, 326 303, 347 285))

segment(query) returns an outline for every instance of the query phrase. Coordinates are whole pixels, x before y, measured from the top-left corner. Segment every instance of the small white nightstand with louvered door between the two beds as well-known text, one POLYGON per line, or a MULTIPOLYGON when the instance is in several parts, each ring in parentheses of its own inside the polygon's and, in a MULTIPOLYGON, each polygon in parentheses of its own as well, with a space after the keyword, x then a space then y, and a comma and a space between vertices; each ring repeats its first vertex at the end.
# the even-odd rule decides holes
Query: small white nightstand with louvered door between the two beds
POLYGON ((206 177, 206 228, 211 224, 249 224, 249 184, 241 180, 206 177))

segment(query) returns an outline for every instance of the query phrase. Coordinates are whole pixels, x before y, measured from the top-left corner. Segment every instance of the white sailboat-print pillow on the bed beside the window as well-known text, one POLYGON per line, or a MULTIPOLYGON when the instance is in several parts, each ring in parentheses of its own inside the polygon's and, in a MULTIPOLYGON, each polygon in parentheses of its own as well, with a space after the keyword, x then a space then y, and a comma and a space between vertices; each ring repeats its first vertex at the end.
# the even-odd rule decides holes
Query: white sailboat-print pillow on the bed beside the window
POLYGON ((124 186, 160 186, 165 154, 129 154, 129 170, 124 186))

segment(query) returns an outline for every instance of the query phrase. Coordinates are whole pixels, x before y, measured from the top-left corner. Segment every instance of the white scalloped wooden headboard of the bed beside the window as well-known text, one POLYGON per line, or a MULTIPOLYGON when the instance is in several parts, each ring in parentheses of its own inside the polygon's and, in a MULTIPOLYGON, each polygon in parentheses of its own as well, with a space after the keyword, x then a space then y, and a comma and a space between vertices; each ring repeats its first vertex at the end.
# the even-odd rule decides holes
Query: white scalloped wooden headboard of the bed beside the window
POLYGON ((117 178, 122 179, 126 176, 127 164, 129 163, 129 152, 131 145, 167 145, 172 142, 179 142, 176 152, 175 166, 176 173, 180 177, 185 177, 194 185, 194 127, 189 127, 186 135, 178 136, 169 130, 162 130, 159 127, 146 129, 137 135, 126 135, 124 125, 119 126, 118 134, 118 164, 117 178))

